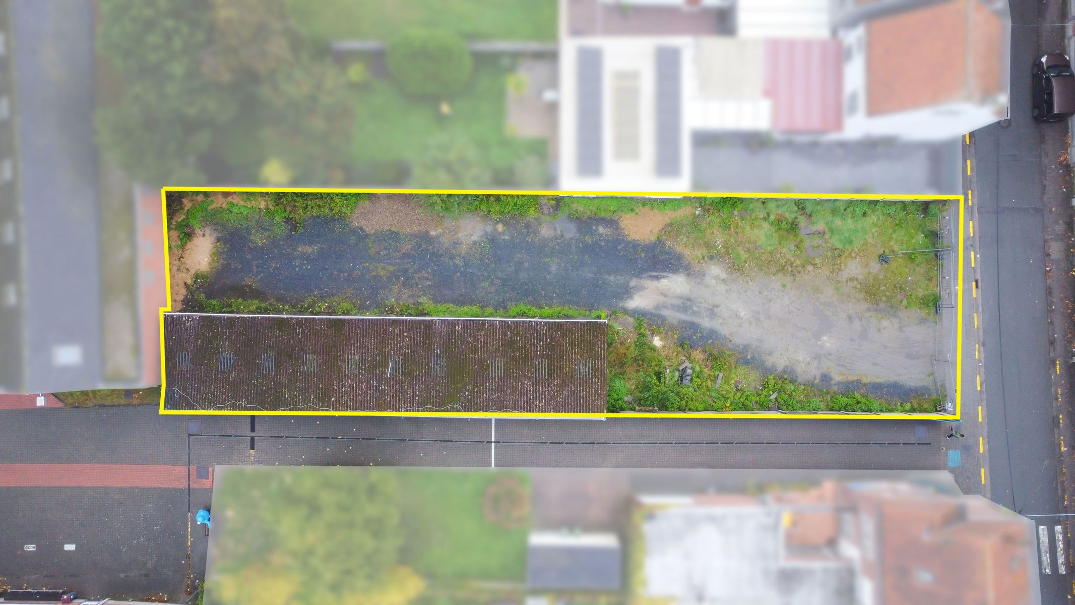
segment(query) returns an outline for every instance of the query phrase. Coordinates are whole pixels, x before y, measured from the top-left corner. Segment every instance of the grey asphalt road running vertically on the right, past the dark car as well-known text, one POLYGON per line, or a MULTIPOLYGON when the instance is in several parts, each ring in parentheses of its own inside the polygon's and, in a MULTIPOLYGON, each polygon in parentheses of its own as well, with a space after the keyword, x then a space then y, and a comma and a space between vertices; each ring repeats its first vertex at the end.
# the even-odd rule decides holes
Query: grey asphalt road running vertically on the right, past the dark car
MULTIPOLYGON (((1055 0, 1012 2, 1010 124, 973 134, 972 246, 980 274, 988 491, 994 502, 1027 516, 1061 513, 1045 272, 1047 211, 1056 200, 1045 196, 1051 160, 1043 149, 1057 147, 1067 129, 1031 119, 1029 72, 1043 53, 1063 49, 1065 11, 1055 0)), ((974 379, 974 364, 966 368, 974 379)), ((1049 534, 1062 519, 1037 518, 1049 534)), ((1042 574, 1042 602, 1072 599, 1069 577, 1056 570, 1042 574)))

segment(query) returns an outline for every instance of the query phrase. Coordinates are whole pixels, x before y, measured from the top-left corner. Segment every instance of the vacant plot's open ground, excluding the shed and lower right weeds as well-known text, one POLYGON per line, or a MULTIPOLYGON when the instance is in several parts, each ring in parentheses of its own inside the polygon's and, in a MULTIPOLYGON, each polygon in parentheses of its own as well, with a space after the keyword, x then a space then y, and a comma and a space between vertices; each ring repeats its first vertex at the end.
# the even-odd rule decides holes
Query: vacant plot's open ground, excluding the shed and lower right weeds
POLYGON ((268 236, 228 225, 187 309, 624 309, 763 374, 886 398, 935 389, 938 261, 877 257, 937 245, 941 204, 518 198, 386 193, 268 236))

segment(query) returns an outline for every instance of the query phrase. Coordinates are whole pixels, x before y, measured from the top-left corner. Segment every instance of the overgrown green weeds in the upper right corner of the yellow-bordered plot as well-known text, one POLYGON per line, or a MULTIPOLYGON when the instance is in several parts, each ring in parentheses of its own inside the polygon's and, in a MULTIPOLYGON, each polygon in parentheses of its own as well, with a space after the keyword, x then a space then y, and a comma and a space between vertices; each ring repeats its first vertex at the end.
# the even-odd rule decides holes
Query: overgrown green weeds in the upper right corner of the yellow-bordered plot
POLYGON ((933 311, 938 296, 932 254, 882 253, 936 247, 946 204, 874 200, 696 198, 701 216, 673 219, 662 237, 696 262, 720 260, 742 273, 818 272, 865 301, 933 311))

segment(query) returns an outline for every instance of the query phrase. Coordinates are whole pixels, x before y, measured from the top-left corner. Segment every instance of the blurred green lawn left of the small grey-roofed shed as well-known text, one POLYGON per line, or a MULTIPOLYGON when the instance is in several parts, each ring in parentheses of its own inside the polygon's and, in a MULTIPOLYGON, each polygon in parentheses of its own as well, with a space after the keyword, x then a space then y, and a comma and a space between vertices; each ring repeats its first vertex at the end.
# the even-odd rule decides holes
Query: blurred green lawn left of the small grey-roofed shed
POLYGON ((403 494, 403 564, 430 581, 522 581, 528 530, 487 522, 483 496, 504 475, 515 476, 529 491, 525 473, 407 469, 393 474, 403 494))

